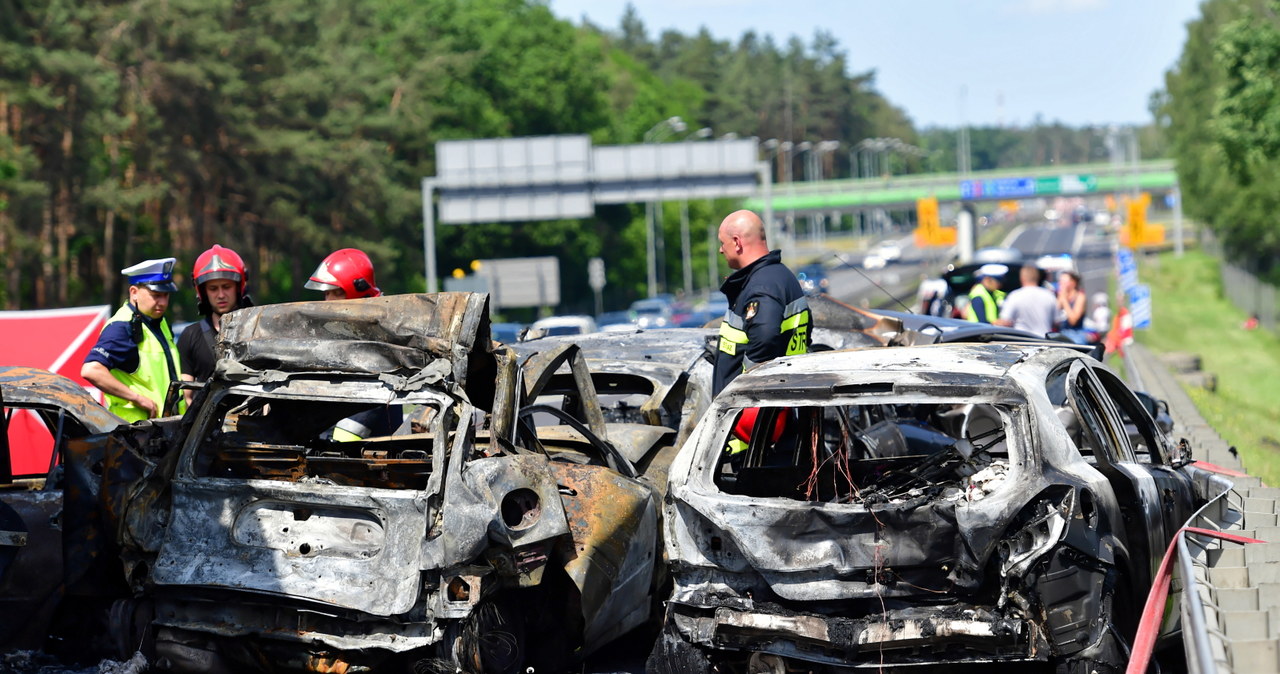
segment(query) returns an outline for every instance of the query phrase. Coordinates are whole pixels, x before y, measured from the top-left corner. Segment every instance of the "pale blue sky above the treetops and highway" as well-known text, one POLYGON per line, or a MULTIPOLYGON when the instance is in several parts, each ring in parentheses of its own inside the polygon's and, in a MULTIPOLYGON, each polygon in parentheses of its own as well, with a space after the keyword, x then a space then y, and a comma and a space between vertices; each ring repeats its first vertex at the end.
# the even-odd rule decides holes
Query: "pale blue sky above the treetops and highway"
MULTIPOLYGON (((1199 0, 635 0, 650 38, 836 36, 916 127, 1146 124, 1199 0)), ((549 0, 617 29, 627 0, 549 0)))

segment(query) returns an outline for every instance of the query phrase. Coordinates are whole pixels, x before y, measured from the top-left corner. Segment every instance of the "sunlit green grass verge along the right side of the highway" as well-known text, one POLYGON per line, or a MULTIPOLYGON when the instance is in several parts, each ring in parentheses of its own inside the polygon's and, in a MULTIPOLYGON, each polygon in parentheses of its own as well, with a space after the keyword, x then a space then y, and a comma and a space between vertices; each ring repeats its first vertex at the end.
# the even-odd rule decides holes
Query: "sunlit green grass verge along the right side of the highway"
POLYGON ((1162 253, 1139 265, 1151 286, 1152 329, 1138 341, 1156 353, 1198 353, 1217 390, 1187 391, 1201 414, 1235 445, 1249 474, 1280 485, 1280 338, 1244 330, 1247 316, 1222 294, 1219 263, 1201 251, 1162 253))

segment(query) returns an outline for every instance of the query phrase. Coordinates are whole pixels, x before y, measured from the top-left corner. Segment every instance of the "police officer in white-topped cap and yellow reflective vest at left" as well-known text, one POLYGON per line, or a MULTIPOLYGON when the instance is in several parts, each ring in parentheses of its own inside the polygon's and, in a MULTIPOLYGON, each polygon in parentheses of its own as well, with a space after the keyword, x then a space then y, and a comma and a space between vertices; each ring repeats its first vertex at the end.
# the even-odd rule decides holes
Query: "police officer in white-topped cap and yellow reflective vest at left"
MULTIPOLYGON (((102 326, 84 357, 81 376, 106 394, 106 408, 125 421, 159 417, 169 382, 178 379, 178 348, 164 320, 173 283, 172 257, 120 270, 129 278, 129 301, 102 326)), ((180 414, 186 404, 178 402, 180 414)))

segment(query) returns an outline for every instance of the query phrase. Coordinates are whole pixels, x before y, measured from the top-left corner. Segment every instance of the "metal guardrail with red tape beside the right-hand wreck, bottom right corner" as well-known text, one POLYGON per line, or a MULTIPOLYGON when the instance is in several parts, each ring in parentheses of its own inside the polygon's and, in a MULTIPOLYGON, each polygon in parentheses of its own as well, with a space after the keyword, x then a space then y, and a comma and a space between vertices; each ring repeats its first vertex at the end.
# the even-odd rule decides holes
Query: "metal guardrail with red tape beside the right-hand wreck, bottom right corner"
POLYGON ((1207 558, 1211 546, 1221 546, 1224 542, 1256 544, 1265 541, 1225 531, 1229 527, 1239 526, 1244 518, 1243 498, 1235 492, 1235 485, 1228 477, 1243 477, 1244 473, 1204 462, 1194 462, 1192 466, 1198 469, 1198 473, 1202 473, 1194 476, 1197 482, 1201 482, 1202 492, 1211 496, 1169 542, 1155 583, 1147 595, 1147 604, 1138 623, 1138 633, 1133 639, 1132 657, 1125 669, 1126 674, 1143 674, 1151 662, 1164 620, 1165 604, 1172 586, 1175 560, 1181 579, 1179 614, 1187 670, 1190 674, 1206 674, 1219 671, 1220 666, 1224 665, 1230 666, 1226 660, 1226 634, 1219 628, 1216 620, 1215 624, 1210 625, 1206 618, 1206 601, 1212 605, 1212 600, 1208 599, 1210 587, 1201 581, 1201 574, 1197 574, 1197 568, 1201 568, 1206 570, 1207 576, 1208 568, 1206 561, 1199 558, 1207 558), (1236 504, 1231 503, 1233 496, 1236 499, 1236 504), (1212 542, 1203 542, 1196 536, 1212 538, 1212 542), (1192 553, 1193 544, 1199 549, 1197 555, 1192 553))

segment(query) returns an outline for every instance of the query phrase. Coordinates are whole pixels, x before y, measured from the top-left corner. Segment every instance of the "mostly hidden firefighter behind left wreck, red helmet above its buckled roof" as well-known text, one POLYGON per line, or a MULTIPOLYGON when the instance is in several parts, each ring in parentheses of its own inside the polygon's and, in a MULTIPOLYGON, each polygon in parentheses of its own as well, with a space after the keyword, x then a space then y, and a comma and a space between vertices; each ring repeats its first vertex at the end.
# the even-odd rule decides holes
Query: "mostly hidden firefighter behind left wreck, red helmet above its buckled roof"
MULTIPOLYGON (((360 248, 343 248, 325 257, 307 279, 308 290, 320 290, 325 301, 381 297, 374 279, 374 262, 360 248)), ((338 443, 390 435, 403 421, 399 407, 379 407, 352 414, 332 428, 338 443)))

